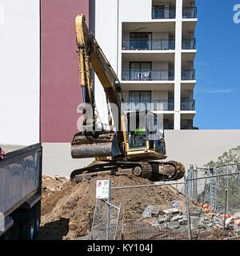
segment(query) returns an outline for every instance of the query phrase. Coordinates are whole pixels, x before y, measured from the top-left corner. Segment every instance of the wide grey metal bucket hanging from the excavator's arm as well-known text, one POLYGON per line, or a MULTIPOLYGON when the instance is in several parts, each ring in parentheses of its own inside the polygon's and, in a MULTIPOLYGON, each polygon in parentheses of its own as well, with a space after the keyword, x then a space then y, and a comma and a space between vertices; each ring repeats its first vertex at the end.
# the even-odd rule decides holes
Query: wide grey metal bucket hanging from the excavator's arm
POLYGON ((105 158, 121 154, 114 133, 86 136, 75 134, 71 143, 72 158, 105 158))

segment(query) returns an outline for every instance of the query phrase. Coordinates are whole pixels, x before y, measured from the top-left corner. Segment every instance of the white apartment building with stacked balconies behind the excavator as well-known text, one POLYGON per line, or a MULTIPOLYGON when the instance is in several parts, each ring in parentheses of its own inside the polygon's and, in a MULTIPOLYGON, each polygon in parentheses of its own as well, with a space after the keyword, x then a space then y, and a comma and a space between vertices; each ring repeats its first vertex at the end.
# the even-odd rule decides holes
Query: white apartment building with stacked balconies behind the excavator
MULTIPOLYGON (((151 110, 163 114, 166 130, 194 129, 195 1, 103 0, 93 11, 91 29, 118 74, 125 102, 152 103, 151 110)), ((107 122, 98 78, 95 86, 107 122)))

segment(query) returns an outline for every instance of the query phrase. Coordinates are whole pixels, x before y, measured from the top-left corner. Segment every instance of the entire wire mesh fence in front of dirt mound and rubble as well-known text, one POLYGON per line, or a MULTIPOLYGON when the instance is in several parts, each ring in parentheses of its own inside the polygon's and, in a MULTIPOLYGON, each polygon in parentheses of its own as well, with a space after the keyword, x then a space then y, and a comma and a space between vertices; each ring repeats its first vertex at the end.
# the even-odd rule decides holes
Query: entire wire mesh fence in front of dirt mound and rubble
POLYGON ((110 202, 97 200, 92 239, 218 239, 224 230, 240 232, 238 165, 190 166, 184 181, 136 184, 113 186, 110 202))

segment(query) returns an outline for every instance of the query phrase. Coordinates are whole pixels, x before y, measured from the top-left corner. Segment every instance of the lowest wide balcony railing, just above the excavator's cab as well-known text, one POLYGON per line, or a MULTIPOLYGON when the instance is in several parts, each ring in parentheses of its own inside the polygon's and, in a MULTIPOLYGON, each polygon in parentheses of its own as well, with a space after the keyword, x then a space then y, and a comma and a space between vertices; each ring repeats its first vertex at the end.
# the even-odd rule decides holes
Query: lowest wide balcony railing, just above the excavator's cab
POLYGON ((126 104, 127 110, 151 110, 151 111, 173 111, 174 110, 174 99, 166 101, 139 101, 139 100, 129 100, 124 102, 126 104))

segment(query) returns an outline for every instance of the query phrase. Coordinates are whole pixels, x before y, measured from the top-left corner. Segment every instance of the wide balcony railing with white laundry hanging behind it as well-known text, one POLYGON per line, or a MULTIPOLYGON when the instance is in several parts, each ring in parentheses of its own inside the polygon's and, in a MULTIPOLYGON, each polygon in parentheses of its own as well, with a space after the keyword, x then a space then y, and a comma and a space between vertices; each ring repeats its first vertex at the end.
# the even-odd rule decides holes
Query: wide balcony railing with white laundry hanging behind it
POLYGON ((174 70, 122 70, 125 81, 172 81, 174 70))

